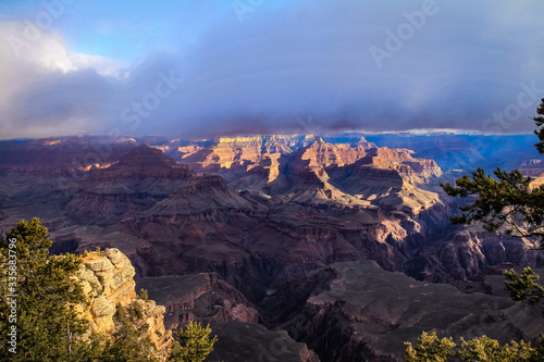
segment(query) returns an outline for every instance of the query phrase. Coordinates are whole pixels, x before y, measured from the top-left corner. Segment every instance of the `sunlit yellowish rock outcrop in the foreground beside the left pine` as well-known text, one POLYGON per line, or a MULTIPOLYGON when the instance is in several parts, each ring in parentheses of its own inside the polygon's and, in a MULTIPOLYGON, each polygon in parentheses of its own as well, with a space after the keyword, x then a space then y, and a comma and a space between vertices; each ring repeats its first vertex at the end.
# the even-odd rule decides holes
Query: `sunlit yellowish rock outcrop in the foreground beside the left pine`
POLYGON ((134 308, 141 310, 143 317, 135 322, 141 330, 140 338, 149 338, 157 347, 158 358, 164 361, 172 346, 172 333, 164 328, 163 305, 153 300, 144 300, 136 296, 135 271, 131 261, 118 249, 106 252, 90 252, 83 257, 78 280, 89 299, 88 305, 81 305, 81 313, 89 321, 94 333, 113 334, 115 329, 115 308, 134 308))

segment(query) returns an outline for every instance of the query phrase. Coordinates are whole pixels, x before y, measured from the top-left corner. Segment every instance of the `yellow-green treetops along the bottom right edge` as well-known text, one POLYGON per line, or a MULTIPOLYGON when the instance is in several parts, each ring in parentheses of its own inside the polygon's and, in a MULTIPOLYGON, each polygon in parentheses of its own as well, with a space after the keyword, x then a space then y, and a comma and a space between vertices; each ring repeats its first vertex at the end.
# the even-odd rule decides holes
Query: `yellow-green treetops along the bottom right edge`
MULTIPOLYGON (((541 337, 541 340, 544 339, 541 337)), ((403 359, 408 362, 446 362, 446 361, 482 361, 482 362, 532 362, 542 361, 539 348, 532 348, 531 344, 511 341, 510 345, 502 346, 497 340, 486 336, 471 340, 460 339, 459 344, 452 341, 452 337, 438 339, 436 333, 421 334, 416 347, 405 342, 406 354, 403 359)))

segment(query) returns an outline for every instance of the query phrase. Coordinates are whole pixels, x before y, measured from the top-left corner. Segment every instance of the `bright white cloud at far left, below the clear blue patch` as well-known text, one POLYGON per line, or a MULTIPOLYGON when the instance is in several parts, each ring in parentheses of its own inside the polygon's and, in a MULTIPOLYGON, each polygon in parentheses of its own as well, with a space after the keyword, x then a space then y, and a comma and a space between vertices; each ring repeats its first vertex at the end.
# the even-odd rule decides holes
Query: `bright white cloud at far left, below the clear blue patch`
POLYGON ((70 84, 70 74, 87 70, 96 72, 95 78, 119 76, 125 66, 116 60, 71 53, 64 37, 55 30, 41 32, 28 22, 0 22, 0 112, 3 115, 0 138, 78 133, 91 114, 89 117, 85 114, 74 116, 63 114, 60 109, 87 108, 74 104, 76 101, 88 101, 92 107, 98 104, 92 96, 88 100, 76 96, 87 92, 86 84, 81 83, 81 77, 70 84), (62 86, 62 91, 55 88, 55 83, 62 86), (74 88, 66 89, 72 86, 74 88), (54 93, 54 89, 59 92, 54 93), (74 93, 72 99, 66 97, 71 92, 74 93), (35 104, 42 109, 37 110, 35 104), (57 109, 53 116, 47 114, 53 109, 57 109), (27 123, 32 123, 32 129, 25 129, 27 123))

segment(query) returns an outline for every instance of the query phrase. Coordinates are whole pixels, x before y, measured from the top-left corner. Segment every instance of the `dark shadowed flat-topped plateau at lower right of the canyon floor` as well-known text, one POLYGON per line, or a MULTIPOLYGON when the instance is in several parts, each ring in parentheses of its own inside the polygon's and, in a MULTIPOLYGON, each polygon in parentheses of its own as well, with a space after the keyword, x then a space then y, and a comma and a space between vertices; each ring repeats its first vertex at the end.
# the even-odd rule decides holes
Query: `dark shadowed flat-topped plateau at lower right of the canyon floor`
POLYGON ((502 344, 512 336, 533 340, 541 332, 536 309, 417 282, 371 261, 336 263, 316 273, 309 276, 313 288, 306 305, 285 329, 322 362, 401 361, 404 341, 416 342, 423 330, 455 339, 486 335, 502 344))

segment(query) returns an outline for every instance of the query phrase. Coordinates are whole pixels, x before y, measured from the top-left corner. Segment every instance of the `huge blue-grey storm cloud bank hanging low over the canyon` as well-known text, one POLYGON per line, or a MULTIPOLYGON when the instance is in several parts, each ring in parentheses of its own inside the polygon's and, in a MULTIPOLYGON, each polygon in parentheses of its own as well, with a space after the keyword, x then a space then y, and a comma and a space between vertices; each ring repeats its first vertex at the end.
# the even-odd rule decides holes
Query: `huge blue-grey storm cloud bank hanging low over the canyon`
POLYGON ((243 23, 225 16, 183 52, 151 54, 115 75, 79 68, 37 76, 17 89, 8 114, 24 126, 84 120, 89 133, 185 138, 529 132, 535 95, 544 97, 543 8, 348 0, 262 7, 243 23))

